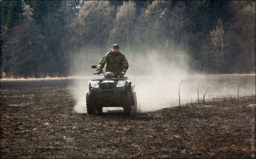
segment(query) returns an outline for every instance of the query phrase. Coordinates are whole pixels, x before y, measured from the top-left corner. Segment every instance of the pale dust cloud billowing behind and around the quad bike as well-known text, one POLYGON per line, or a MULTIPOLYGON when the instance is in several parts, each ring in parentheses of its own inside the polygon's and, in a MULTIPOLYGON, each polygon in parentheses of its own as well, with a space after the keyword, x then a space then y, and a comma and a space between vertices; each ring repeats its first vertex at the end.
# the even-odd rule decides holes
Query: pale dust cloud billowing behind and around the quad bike
MULTIPOLYGON (((202 102, 204 94, 206 101, 218 97, 237 98, 240 82, 239 96, 255 95, 255 75, 201 75, 191 71, 189 57, 182 51, 129 53, 120 48, 120 52, 128 59, 126 76, 135 84, 134 91, 141 112, 178 106, 179 91, 181 105, 198 102, 198 97, 199 102, 202 102)), ((105 53, 97 54, 93 59, 76 59, 83 64, 83 67, 76 68, 80 69, 80 78, 75 81, 76 87, 72 90, 76 99, 74 110, 78 113, 86 113, 88 81, 102 77, 92 75, 95 70, 90 66, 97 65, 103 55, 105 53)), ((112 110, 104 108, 103 111, 106 112, 107 109, 112 110)))

